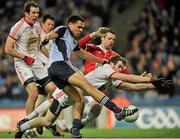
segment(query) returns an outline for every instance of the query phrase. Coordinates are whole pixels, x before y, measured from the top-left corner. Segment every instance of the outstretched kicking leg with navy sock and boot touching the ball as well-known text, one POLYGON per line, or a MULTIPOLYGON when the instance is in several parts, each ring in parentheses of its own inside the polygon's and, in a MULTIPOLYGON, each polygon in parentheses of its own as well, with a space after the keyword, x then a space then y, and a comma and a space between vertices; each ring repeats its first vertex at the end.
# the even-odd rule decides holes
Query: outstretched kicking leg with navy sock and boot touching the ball
POLYGON ((119 108, 113 103, 107 96, 97 90, 92 84, 90 84, 80 72, 74 73, 68 78, 68 82, 74 86, 77 86, 91 95, 97 102, 104 105, 108 109, 114 112, 117 120, 122 120, 124 117, 134 114, 138 109, 128 110, 119 108))

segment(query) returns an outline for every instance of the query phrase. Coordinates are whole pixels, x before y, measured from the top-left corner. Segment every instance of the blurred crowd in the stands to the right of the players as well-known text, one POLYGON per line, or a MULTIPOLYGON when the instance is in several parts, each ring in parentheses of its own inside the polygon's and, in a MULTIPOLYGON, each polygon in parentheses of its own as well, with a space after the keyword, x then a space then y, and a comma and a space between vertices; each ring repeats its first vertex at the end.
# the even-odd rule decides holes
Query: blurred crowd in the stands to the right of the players
POLYGON ((179 2, 151 0, 145 3, 128 36, 131 73, 151 72, 173 80, 174 87, 159 92, 169 98, 180 93, 180 10, 179 2))

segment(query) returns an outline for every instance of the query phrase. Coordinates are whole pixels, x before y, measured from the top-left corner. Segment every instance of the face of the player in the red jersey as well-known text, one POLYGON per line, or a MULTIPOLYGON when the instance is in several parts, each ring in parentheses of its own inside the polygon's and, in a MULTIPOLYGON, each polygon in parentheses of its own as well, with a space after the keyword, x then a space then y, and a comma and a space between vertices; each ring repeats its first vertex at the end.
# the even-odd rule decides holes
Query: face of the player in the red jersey
POLYGON ((101 38, 101 45, 104 47, 106 50, 110 50, 115 42, 116 36, 115 34, 111 32, 107 32, 106 36, 101 38))

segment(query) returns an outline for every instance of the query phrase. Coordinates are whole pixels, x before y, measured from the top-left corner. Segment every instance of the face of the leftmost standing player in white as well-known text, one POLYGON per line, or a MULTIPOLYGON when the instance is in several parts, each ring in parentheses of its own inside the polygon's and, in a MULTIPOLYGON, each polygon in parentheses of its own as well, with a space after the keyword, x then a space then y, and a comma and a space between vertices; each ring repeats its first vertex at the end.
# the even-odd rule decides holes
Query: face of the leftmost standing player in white
POLYGON ((25 12, 25 18, 30 24, 34 24, 39 17, 39 8, 31 7, 29 13, 25 12))

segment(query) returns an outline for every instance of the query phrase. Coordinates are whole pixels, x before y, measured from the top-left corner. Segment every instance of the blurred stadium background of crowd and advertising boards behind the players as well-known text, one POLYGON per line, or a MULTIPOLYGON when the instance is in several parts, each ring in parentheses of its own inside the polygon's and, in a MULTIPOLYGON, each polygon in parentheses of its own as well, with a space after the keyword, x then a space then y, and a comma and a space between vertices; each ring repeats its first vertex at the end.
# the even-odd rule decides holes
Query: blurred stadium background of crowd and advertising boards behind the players
MULTIPOLYGON (((130 73, 151 72, 155 77, 172 79, 173 88, 163 92, 142 93, 110 90, 110 98, 140 108, 140 117, 133 124, 117 122, 112 113, 103 110, 98 128, 180 128, 180 11, 175 0, 39 0, 41 13, 52 14, 56 25, 78 13, 86 19, 85 33, 99 26, 113 27, 117 33, 114 50, 125 56, 130 73)), ((25 0, 0 1, 0 130, 13 130, 25 115, 25 89, 14 71, 12 57, 3 53, 10 27, 23 14, 25 0)), ((83 34, 83 35, 84 35, 83 34)), ((95 42, 99 43, 99 41, 95 42)), ((72 56, 73 63, 83 70, 82 60, 72 56)), ((70 112, 70 109, 68 110, 70 112)), ((69 112, 68 115, 69 115, 69 112)), ((71 121, 69 116, 67 120, 71 121)))

